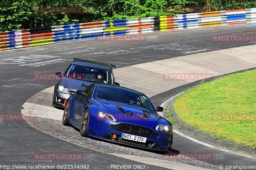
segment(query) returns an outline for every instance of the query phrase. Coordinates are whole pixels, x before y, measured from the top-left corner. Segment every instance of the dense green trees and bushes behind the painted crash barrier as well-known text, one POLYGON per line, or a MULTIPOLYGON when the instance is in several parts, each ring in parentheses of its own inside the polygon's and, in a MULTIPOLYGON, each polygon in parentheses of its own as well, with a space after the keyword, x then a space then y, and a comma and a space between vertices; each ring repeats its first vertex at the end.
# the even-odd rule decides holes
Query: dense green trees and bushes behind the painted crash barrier
POLYGON ((254 0, 1 0, 0 31, 73 23, 176 15, 192 10, 184 6, 207 6, 208 10, 253 8, 254 0), (84 14, 34 13, 37 6, 81 6, 84 14), (171 6, 165 7, 165 6, 171 6))

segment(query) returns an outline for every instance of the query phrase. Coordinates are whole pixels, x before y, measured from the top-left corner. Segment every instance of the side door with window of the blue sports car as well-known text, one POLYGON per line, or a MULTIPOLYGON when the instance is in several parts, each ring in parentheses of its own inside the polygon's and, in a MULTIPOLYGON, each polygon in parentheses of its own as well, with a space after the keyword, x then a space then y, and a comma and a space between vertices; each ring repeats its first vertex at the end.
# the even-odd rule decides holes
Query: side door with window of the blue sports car
POLYGON ((91 102, 90 96, 93 91, 94 85, 89 85, 85 90, 86 96, 76 94, 75 99, 75 120, 77 123, 81 122, 81 117, 84 113, 84 108, 91 102))

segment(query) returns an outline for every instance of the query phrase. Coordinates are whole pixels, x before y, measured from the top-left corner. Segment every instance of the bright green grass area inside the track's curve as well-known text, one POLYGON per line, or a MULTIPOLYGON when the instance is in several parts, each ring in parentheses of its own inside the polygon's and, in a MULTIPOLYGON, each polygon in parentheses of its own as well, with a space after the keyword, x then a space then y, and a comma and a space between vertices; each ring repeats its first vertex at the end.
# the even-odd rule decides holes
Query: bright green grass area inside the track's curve
POLYGON ((176 98, 181 120, 218 139, 256 145, 256 120, 216 121, 212 116, 256 116, 256 70, 228 75, 200 84, 176 98))

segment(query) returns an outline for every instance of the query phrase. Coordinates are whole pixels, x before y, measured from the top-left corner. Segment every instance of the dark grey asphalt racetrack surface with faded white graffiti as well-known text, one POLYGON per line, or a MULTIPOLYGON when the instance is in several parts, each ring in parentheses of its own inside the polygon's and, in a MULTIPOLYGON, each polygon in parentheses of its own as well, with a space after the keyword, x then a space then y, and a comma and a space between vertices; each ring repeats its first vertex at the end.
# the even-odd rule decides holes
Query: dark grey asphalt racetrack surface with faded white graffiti
MULTIPOLYGON (((74 57, 113 63, 120 68, 204 51, 254 45, 255 42, 212 42, 212 35, 255 34, 255 31, 255 24, 223 26, 140 35, 145 36, 145 41, 88 40, 0 51, 0 114, 20 113, 22 104, 30 96, 55 84, 53 81, 33 81, 33 74, 63 72, 74 57), (48 64, 37 63, 45 61, 48 61, 48 64)), ((179 90, 186 90, 187 87, 184 86, 179 90)), ((152 97, 152 100, 154 104, 162 103, 173 94, 179 93, 179 90, 164 92, 152 97)), ((44 152, 82 153, 84 160, 72 162, 72 164, 89 164, 90 169, 108 169, 111 164, 141 164, 70 144, 39 132, 24 121, 6 121, 0 124, 0 129, 0 163, 4 165, 39 164, 38 161, 33 160, 33 154, 44 152)), ((255 165, 253 159, 220 152, 181 136, 174 136, 172 149, 183 153, 218 154, 223 158, 222 160, 205 161, 217 166, 255 165)), ((56 162, 40 162, 40 165, 56 164, 56 162)), ((58 164, 65 164, 65 162, 58 162, 58 164)), ((151 165, 146 167, 164 169, 151 165)))

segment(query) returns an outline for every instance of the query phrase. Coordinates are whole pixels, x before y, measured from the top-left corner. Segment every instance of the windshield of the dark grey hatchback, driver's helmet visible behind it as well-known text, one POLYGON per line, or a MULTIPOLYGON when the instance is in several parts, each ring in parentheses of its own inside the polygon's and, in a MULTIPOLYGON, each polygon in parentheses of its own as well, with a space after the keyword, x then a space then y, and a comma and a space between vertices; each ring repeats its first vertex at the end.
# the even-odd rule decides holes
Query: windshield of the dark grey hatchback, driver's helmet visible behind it
POLYGON ((108 70, 78 64, 71 64, 64 77, 89 82, 109 83, 108 70))

